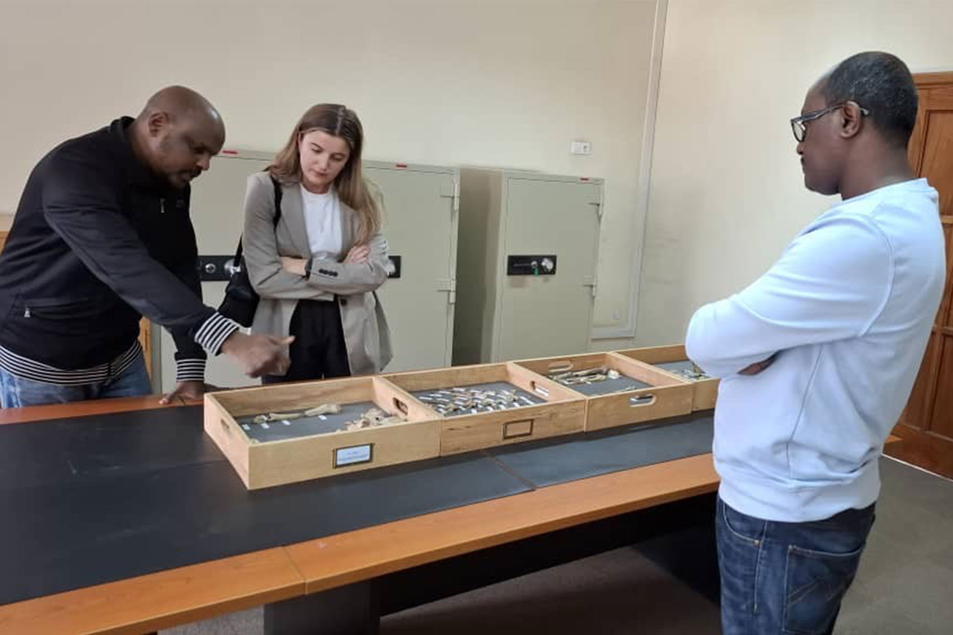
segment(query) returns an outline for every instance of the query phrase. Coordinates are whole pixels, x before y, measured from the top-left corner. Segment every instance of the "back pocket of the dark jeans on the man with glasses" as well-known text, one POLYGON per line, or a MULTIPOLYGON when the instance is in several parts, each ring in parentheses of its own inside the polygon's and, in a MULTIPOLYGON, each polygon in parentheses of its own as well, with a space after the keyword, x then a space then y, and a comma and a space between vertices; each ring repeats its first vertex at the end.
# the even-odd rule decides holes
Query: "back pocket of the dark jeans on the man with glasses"
POLYGON ((841 599, 854 581, 863 544, 847 553, 788 546, 784 588, 784 632, 823 635, 841 608, 841 599))

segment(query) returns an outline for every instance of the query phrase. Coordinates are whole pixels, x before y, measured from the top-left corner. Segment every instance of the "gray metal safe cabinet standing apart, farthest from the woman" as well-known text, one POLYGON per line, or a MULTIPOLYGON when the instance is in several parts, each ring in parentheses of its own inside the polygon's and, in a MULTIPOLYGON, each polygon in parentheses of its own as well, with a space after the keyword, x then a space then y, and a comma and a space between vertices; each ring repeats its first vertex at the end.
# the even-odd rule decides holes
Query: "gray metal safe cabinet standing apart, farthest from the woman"
POLYGON ((454 364, 587 350, 601 179, 460 171, 454 364))

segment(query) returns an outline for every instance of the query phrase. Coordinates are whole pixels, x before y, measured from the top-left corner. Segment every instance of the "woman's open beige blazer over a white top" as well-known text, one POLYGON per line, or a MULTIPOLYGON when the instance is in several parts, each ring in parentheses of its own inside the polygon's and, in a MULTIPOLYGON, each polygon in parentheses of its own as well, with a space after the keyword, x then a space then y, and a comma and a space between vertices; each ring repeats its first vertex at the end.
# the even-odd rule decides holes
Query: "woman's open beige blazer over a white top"
MULTIPOLYGON (((377 203, 383 205, 380 196, 377 203)), ((359 219, 354 209, 341 204, 342 251, 354 246, 359 219)), ((380 233, 368 243, 367 263, 355 265, 332 260, 314 260, 311 276, 281 268, 281 256, 311 257, 304 203, 298 185, 284 186, 281 218, 274 227, 274 186, 268 172, 248 177, 245 191, 245 232, 242 248, 252 287, 261 296, 252 323, 253 333, 288 335, 298 300, 330 300, 341 308, 341 325, 348 348, 351 374, 380 372, 390 363, 391 333, 375 289, 387 280, 391 263, 387 241, 380 233)))

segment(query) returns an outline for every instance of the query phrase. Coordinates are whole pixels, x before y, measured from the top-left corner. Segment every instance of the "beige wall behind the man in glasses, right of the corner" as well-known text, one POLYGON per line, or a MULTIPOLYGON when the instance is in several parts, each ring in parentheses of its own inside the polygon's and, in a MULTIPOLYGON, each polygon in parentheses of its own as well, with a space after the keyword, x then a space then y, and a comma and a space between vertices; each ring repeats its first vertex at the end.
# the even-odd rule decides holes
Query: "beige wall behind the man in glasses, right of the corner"
POLYGON ((862 50, 953 69, 951 2, 668 4, 636 340, 681 341, 834 199, 803 189, 788 119, 862 50))

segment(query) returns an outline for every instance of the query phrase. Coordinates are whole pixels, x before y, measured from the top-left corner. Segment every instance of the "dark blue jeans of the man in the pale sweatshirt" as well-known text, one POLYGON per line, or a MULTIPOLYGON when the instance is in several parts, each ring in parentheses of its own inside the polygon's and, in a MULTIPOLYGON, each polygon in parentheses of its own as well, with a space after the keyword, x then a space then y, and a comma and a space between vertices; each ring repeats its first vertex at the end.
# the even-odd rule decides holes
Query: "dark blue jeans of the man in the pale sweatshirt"
POLYGON ((873 524, 873 505, 813 523, 777 523, 719 497, 722 635, 831 633, 873 524))

